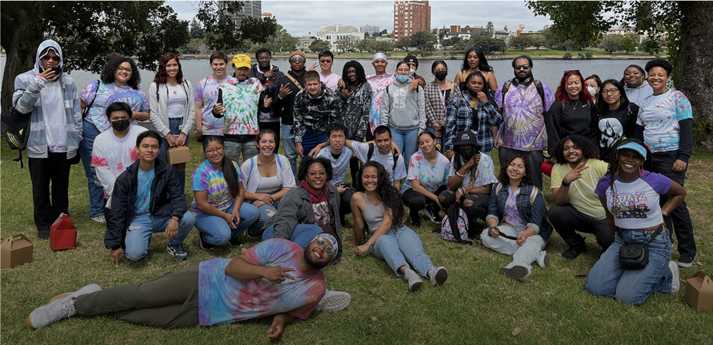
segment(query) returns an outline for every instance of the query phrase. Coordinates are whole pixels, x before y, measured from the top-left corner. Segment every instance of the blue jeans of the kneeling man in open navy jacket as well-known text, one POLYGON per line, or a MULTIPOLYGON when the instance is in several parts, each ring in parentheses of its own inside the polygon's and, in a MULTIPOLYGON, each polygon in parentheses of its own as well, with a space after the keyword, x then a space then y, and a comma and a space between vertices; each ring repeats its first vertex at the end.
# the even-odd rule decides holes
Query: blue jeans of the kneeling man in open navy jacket
MULTIPOLYGON (((149 213, 140 215, 131 220, 124 239, 126 259, 136 261, 148 255, 148 245, 151 242, 151 235, 156 232, 165 232, 171 217, 154 217, 149 213)), ((185 212, 178 221, 178 235, 173 237, 168 244, 176 245, 183 243, 188 236, 188 232, 193 229, 195 217, 193 213, 185 212)))

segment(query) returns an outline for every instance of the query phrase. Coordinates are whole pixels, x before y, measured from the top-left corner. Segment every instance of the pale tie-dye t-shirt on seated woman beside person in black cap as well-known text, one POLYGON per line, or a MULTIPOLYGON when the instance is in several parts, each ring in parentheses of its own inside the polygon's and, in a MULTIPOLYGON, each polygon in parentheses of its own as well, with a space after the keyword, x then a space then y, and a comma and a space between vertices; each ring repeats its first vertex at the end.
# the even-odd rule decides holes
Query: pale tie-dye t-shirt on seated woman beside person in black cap
POLYGON ((419 180, 421 186, 429 192, 436 192, 441 185, 448 185, 448 176, 451 175, 451 161, 442 153, 438 152, 436 164, 431 165, 424 157, 424 152, 419 150, 411 155, 409 163, 409 176, 406 183, 401 186, 401 193, 411 188, 411 180, 419 180))

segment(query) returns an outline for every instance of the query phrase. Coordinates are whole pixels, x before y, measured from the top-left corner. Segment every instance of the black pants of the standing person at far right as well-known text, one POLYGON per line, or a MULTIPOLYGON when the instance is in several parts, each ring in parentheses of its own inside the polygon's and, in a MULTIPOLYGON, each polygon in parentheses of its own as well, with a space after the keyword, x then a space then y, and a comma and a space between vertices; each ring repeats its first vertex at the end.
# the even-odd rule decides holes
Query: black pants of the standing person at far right
MULTIPOLYGON (((683 186, 683 182, 686 180, 686 170, 680 172, 671 170, 671 168, 673 168, 673 163, 678 157, 677 150, 657 152, 652 153, 651 155, 654 163, 654 172, 658 172, 683 186)), ((663 206, 668 200, 668 195, 661 195, 661 206, 663 206)), ((666 223, 667 229, 673 229, 676 233, 678 253, 681 255, 695 257, 696 241, 693 238, 693 224, 691 223, 691 215, 688 212, 686 200, 681 202, 681 205, 678 205, 678 207, 670 213, 669 217, 664 217, 664 222, 666 223)))

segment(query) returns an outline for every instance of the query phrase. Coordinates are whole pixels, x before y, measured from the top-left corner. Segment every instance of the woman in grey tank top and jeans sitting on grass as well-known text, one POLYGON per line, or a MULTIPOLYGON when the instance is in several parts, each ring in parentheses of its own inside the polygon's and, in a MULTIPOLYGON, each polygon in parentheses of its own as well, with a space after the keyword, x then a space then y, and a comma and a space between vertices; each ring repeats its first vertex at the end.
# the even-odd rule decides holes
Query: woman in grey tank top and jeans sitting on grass
POLYGON ((371 252, 386 261, 396 276, 409 282, 409 290, 415 291, 423 282, 419 274, 441 286, 448 279, 446 267, 434 267, 431 258, 424 253, 424 245, 414 230, 403 225, 404 202, 399 190, 391 185, 391 178, 384 165, 369 160, 356 174, 356 190, 352 197, 354 213, 354 242, 356 255, 371 252), (364 225, 371 237, 361 244, 364 225), (361 244, 361 245, 359 245, 361 244), (414 267, 414 269, 411 269, 414 267))

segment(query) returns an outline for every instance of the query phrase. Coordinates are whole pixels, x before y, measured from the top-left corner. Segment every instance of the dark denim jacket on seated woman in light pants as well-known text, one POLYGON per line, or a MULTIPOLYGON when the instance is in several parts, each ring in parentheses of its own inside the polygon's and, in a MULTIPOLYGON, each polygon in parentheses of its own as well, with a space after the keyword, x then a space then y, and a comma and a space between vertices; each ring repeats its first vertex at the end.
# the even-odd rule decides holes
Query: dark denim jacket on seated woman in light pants
MULTIPOLYGON (((490 200, 488 200, 486 222, 488 222, 488 219, 494 218, 500 224, 503 221, 503 215, 505 215, 505 203, 508 202, 508 186, 503 185, 496 195, 498 184, 493 185, 493 191, 491 192, 490 200)), ((530 192, 532 192, 533 187, 532 185, 520 187, 518 195, 515 196, 515 205, 518 207, 518 215, 520 215, 520 220, 525 223, 525 227, 532 227, 535 230, 535 235, 540 235, 543 240, 547 241, 552 235, 552 225, 545 220, 543 215, 545 201, 542 191, 538 191, 535 202, 530 205, 530 192)))

